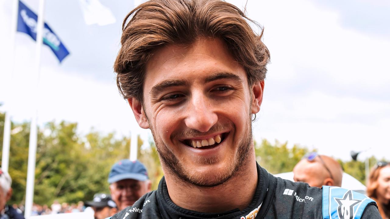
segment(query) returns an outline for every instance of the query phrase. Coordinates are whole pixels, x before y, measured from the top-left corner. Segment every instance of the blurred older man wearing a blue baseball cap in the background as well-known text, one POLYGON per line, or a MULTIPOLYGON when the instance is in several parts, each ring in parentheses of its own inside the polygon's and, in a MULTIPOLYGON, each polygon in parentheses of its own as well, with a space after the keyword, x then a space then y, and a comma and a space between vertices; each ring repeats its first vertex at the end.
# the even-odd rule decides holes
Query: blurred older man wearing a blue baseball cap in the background
POLYGON ((128 159, 112 166, 108 183, 112 200, 119 211, 133 205, 141 196, 150 192, 152 187, 144 164, 128 159))

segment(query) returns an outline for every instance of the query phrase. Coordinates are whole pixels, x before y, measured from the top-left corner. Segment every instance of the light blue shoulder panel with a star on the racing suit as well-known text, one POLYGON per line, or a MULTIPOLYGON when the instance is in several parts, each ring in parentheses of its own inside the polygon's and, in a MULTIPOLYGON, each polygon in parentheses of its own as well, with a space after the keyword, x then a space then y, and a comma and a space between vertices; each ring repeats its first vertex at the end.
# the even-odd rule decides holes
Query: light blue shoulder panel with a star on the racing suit
POLYGON ((375 202, 367 196, 336 186, 322 187, 324 219, 360 219, 365 207, 375 202))

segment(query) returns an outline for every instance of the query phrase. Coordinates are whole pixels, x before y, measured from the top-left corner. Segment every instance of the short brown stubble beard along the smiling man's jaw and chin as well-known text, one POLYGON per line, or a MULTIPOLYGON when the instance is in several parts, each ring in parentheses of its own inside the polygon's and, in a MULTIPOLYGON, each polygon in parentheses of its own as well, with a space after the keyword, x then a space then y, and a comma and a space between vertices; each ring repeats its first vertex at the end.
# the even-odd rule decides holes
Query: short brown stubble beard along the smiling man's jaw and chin
MULTIPOLYGON (((251 116, 250 116, 251 117, 251 116)), ((151 132, 156 143, 156 148, 160 161, 164 167, 167 168, 170 173, 172 173, 178 180, 187 182, 190 185, 195 185, 198 187, 216 187, 222 185, 228 180, 232 179, 233 176, 238 176, 239 172, 245 168, 245 164, 248 162, 248 156, 252 151, 252 122, 248 120, 248 129, 245 130, 243 138, 238 143, 238 151, 235 156, 234 161, 226 164, 223 168, 223 171, 219 173, 214 173, 212 175, 204 175, 200 173, 194 173, 190 170, 186 170, 179 159, 174 155, 174 153, 169 150, 167 145, 163 143, 160 138, 156 138, 156 132, 154 128, 151 127, 151 132)), ((199 149, 202 150, 202 149, 199 149)), ((204 159, 199 161, 204 164, 213 164, 219 161, 218 157, 213 157, 210 159, 204 159)))

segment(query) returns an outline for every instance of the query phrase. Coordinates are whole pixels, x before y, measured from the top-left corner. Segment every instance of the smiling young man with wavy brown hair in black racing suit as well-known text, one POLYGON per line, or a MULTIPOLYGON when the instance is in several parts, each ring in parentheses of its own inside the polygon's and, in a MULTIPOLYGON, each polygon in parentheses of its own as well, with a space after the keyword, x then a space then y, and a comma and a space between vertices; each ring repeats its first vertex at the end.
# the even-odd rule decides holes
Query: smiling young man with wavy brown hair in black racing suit
MULTIPOLYGON (((220 0, 151 0, 125 18, 117 85, 140 127, 151 129, 165 177, 113 218, 327 217, 321 189, 256 163, 252 118, 269 52, 248 21, 220 0)), ((324 197, 343 200, 324 200, 327 214, 380 218, 365 196, 327 189, 324 197)))

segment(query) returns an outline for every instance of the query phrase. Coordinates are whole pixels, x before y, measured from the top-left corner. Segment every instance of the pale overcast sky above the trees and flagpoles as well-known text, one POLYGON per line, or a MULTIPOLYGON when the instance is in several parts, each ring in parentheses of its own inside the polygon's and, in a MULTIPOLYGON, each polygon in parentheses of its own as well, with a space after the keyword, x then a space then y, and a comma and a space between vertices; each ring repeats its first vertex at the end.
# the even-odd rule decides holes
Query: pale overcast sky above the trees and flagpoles
MULTIPOLYGON (((23 2, 38 11, 38 0, 23 2)), ((36 99, 31 95, 34 41, 16 34, 12 67, 12 4, 0 1, 0 111, 9 107, 12 120, 28 121, 37 101, 39 124, 66 120, 78 122, 80 134, 93 127, 118 136, 131 131, 148 135, 120 97, 112 70, 122 19, 134 3, 100 2, 113 12, 116 23, 87 26, 78 0, 46 1, 45 21, 71 54, 59 64, 43 46, 36 99)), ((243 8, 246 1, 228 2, 243 8)), ((389 160, 390 2, 248 0, 246 9, 264 26, 271 52, 255 140, 288 141, 343 160, 350 159, 351 150, 371 148, 366 155, 389 160)))

